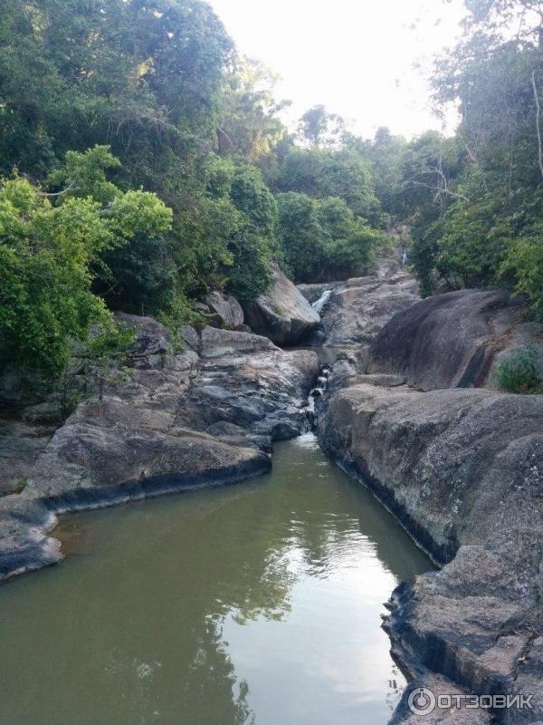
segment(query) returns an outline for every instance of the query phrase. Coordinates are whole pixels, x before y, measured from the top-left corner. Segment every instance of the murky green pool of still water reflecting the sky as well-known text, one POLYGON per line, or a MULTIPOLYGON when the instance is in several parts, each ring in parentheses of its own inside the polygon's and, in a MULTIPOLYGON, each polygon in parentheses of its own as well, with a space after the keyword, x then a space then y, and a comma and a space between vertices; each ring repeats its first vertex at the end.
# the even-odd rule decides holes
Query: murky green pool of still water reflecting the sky
POLYGON ((315 440, 270 476, 65 517, 0 586, 1 725, 383 725, 382 603, 430 565, 315 440))

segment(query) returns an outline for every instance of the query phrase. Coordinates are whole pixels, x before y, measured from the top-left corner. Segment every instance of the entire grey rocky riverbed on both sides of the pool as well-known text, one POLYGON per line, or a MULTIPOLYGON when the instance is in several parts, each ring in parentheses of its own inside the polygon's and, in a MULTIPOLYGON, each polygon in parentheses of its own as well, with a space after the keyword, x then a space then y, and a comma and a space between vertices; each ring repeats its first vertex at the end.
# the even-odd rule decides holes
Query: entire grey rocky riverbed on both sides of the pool
POLYGON ((493 375, 522 344, 543 358, 538 327, 503 292, 421 301, 392 260, 298 289, 274 274, 245 314, 208 295, 213 324, 232 329, 186 327, 182 352, 157 321, 119 315, 137 331, 128 382, 60 426, 39 406, 5 421, 0 578, 62 559, 49 536, 60 513, 268 471, 272 441, 306 430, 319 376, 316 353, 276 343, 334 348, 320 444, 442 566, 388 604, 393 652, 413 678, 393 722, 543 722, 543 397, 498 391, 493 375), (529 694, 533 709, 416 716, 407 702, 420 687, 529 694))

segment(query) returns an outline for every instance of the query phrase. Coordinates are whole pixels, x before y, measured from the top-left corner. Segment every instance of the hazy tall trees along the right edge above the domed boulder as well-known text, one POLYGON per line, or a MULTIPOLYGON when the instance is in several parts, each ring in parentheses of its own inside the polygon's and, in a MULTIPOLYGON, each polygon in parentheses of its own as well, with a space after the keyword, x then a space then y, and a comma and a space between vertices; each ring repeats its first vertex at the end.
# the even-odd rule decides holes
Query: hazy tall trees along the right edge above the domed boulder
POLYGON ((424 294, 443 280, 500 285, 543 310, 539 5, 469 0, 464 38, 436 65, 435 98, 458 103, 462 121, 452 140, 424 134, 403 150, 395 205, 424 294))

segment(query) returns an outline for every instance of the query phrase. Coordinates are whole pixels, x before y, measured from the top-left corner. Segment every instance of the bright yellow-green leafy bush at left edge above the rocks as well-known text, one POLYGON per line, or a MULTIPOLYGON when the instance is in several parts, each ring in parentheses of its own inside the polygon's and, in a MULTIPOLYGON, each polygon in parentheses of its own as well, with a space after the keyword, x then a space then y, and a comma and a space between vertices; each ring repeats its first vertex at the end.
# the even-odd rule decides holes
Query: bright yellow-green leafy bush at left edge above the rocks
MULTIPOLYGON (((106 151, 100 152, 108 160, 106 151)), ((96 169, 97 151, 87 156, 96 169)), ((85 167, 85 156, 73 163, 85 167)), ((84 176, 84 175, 83 175, 84 176)), ((79 176, 79 178, 83 178, 79 176)), ((90 179, 89 176, 85 177, 90 179)), ((93 179, 103 190, 103 179, 93 179)), ((85 189, 86 191, 90 189, 85 189)), ((73 187, 75 193, 75 187, 73 187)), ((164 234, 171 211, 143 191, 123 194, 110 189, 111 202, 90 196, 54 196, 54 205, 41 189, 21 178, 5 180, 0 189, 0 350, 3 362, 16 362, 54 372, 65 365, 71 340, 84 340, 89 325, 104 324, 105 304, 92 293, 92 269, 126 247, 164 234)), ((120 280, 119 280, 120 284, 120 280)))

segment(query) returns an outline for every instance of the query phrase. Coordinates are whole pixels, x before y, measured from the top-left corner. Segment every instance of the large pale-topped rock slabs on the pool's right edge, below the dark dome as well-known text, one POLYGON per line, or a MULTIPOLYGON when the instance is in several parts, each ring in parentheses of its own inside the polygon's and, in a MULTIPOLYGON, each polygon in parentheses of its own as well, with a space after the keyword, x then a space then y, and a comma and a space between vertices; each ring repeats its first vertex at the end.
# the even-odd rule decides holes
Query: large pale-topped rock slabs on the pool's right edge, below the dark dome
POLYGON ((319 438, 445 565, 396 590, 396 658, 473 694, 534 693, 503 721, 543 719, 543 397, 360 384, 319 438))

